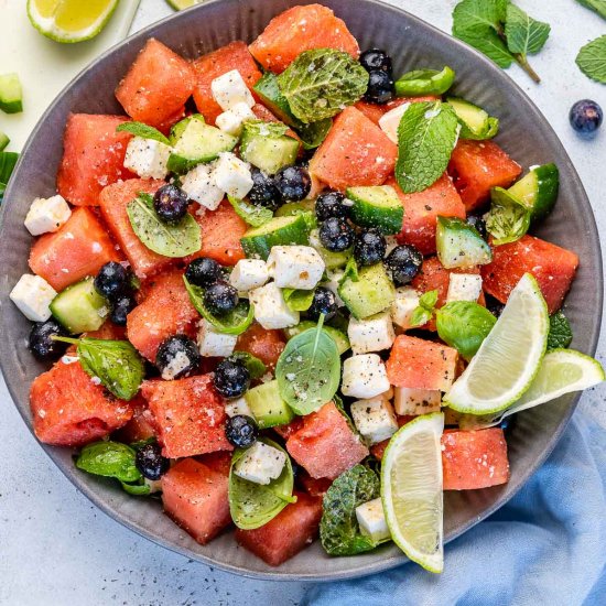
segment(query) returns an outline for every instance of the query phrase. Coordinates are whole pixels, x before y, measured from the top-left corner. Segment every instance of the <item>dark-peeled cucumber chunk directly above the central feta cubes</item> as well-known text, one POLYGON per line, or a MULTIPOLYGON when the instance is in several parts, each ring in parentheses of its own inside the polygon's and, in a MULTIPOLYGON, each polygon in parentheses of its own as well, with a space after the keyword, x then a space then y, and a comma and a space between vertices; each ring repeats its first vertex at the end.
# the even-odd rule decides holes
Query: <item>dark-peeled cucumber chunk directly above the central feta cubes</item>
POLYGON ((307 245, 310 227, 303 215, 273 217, 261 227, 249 229, 240 244, 247 257, 267 259, 274 246, 307 245))

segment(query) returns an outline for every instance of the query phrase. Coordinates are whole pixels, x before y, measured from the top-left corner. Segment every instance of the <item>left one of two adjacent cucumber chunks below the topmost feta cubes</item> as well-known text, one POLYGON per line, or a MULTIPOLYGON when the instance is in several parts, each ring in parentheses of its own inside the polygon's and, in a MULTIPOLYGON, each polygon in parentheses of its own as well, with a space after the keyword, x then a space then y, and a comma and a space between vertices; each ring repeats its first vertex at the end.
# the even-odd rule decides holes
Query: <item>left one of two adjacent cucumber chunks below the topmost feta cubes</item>
POLYGON ((186 173, 202 162, 215 160, 219 153, 231 151, 238 139, 199 120, 190 120, 169 156, 169 170, 186 173))

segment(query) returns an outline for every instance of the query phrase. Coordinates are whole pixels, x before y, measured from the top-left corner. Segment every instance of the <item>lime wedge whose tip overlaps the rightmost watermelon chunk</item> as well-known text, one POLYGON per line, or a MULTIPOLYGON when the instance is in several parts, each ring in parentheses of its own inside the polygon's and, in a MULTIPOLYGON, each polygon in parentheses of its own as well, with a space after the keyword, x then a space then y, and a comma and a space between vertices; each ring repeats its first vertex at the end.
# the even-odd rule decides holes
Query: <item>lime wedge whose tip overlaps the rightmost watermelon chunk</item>
POLYGON ((446 405, 491 414, 518 401, 545 354, 549 314, 537 280, 526 273, 463 375, 444 396, 446 405))

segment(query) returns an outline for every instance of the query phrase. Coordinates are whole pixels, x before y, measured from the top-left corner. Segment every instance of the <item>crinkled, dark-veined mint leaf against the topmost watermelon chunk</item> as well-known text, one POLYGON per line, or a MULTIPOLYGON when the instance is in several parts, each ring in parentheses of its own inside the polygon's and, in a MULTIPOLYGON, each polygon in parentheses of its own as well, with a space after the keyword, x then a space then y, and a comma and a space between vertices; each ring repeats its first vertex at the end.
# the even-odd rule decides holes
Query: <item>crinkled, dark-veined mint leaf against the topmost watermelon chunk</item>
POLYGON ((366 93, 368 72, 350 55, 332 48, 301 53, 282 74, 278 86, 291 111, 302 122, 332 118, 366 93))

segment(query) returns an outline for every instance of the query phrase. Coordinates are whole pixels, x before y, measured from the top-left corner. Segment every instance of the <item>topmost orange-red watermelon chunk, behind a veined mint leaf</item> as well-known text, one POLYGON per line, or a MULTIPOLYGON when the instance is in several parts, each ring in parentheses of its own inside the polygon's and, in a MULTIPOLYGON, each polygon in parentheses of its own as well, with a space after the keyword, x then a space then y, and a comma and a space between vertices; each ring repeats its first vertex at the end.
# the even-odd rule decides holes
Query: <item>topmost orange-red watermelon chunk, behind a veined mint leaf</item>
POLYGON ((267 71, 277 74, 312 48, 336 48, 354 58, 360 54, 344 21, 321 4, 293 7, 274 17, 249 48, 267 71))

